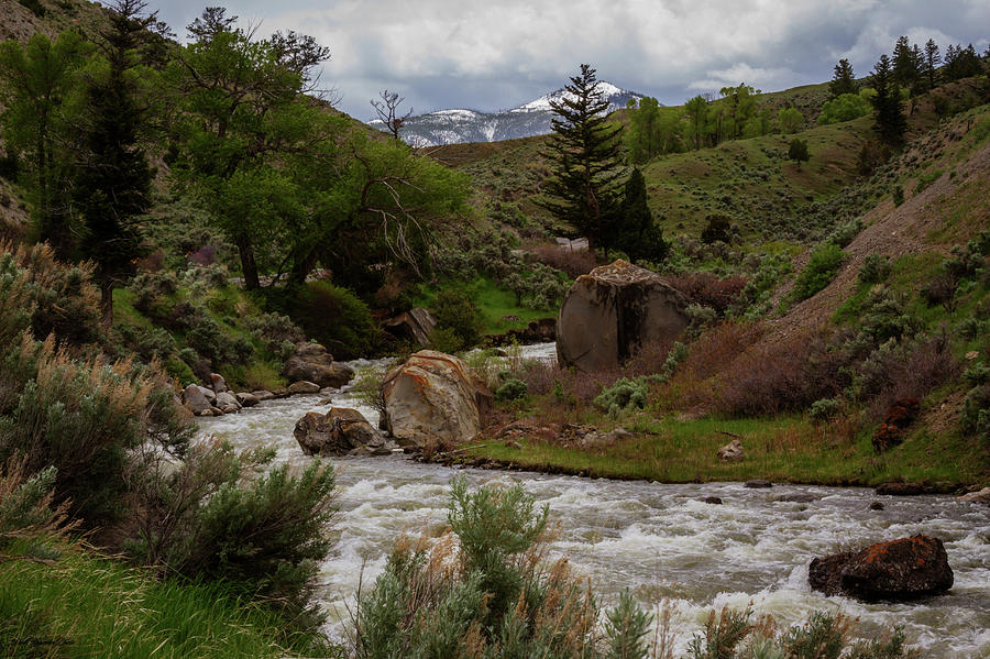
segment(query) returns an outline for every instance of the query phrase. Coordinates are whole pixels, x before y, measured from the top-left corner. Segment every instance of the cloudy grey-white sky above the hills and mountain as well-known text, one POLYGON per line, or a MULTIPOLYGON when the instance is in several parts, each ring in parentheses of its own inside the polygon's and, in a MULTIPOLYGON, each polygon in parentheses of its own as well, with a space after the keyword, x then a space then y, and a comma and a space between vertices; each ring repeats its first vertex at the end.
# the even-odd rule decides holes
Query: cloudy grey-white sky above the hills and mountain
POLYGON ((320 83, 362 120, 386 88, 417 114, 512 108, 585 62, 600 79, 681 105, 740 83, 825 81, 840 57, 865 75, 901 34, 943 51, 982 52, 990 37, 988 0, 148 0, 183 39, 206 4, 260 34, 296 30, 328 45, 320 83))

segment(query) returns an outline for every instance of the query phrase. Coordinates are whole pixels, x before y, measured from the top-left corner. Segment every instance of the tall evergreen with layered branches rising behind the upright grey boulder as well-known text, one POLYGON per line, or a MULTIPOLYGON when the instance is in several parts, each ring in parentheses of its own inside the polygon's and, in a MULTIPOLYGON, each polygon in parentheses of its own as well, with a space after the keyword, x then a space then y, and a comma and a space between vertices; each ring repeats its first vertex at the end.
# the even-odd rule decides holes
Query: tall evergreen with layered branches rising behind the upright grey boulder
POLYGON ((544 155, 554 173, 547 183, 549 198, 541 205, 587 238, 588 249, 601 246, 608 254, 614 242, 618 207, 622 127, 604 117, 608 102, 598 91, 595 69, 581 65, 561 100, 550 101, 556 117, 544 155))

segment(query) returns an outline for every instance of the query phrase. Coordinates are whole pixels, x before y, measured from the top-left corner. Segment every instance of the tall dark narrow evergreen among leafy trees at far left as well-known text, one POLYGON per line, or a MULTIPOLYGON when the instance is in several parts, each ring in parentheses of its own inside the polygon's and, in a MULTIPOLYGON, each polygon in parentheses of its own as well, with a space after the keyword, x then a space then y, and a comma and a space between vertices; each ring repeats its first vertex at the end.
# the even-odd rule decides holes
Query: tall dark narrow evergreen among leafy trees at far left
POLYGON ((97 264, 103 322, 113 315, 113 286, 133 267, 141 235, 136 220, 150 206, 154 176, 140 146, 147 107, 141 99, 136 52, 147 21, 141 0, 111 6, 101 35, 102 58, 86 76, 79 160, 73 201, 82 227, 81 256, 97 264))

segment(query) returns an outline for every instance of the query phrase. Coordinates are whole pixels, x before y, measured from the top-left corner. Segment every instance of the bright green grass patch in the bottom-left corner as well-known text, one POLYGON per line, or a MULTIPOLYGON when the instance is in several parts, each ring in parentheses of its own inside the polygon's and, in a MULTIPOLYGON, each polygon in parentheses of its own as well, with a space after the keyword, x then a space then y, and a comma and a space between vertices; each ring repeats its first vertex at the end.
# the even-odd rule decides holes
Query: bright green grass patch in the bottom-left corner
POLYGON ((0 562, 0 655, 18 658, 286 657, 324 655, 317 636, 222 584, 156 581, 69 549, 50 563, 6 551, 0 562))

